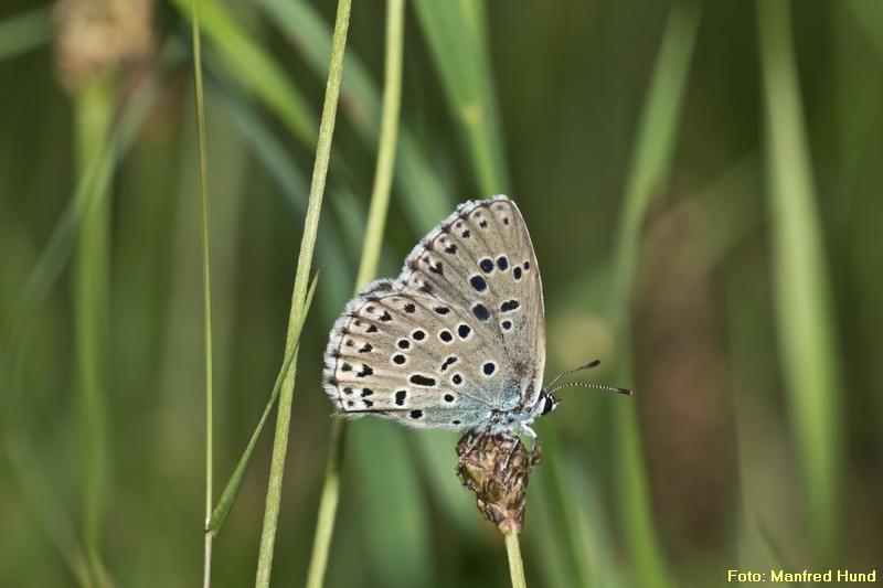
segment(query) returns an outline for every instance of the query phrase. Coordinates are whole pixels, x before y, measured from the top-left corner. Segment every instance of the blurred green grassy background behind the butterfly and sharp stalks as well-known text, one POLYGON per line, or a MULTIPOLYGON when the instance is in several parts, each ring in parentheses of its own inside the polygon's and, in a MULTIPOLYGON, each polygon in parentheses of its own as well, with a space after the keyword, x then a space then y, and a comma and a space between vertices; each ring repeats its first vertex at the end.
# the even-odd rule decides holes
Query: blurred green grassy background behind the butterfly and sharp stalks
MULTIPOLYGON (((283 361, 334 10, 201 12, 216 493, 283 361)), ((529 584, 883 574, 883 3, 406 10, 380 275, 396 276, 457 203, 507 193, 543 272, 545 379, 600 359, 578 379, 636 391, 570 388, 536 424, 529 584)), ((310 556, 331 423, 321 355, 355 286, 384 12, 352 11, 279 586, 302 584, 310 556)), ((201 578, 189 14, 187 0, 0 7, 2 586, 201 578), (114 160, 100 157, 108 136, 114 160)), ((508 585, 501 537, 454 475, 457 439, 351 424, 328 586, 508 585)), ((269 452, 265 432, 215 542, 215 586, 254 581, 269 452)))

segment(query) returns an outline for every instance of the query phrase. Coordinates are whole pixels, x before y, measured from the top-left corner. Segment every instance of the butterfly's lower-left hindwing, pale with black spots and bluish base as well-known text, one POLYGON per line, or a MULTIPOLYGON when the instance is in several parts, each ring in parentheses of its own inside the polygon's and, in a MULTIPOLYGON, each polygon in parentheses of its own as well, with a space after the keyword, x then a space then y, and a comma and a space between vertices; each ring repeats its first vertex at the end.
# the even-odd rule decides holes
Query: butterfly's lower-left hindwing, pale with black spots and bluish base
POLYGON ((395 288, 372 284, 334 328, 326 385, 340 411, 456 429, 487 417, 491 405, 462 389, 465 357, 478 352, 471 333, 438 300, 395 288))

